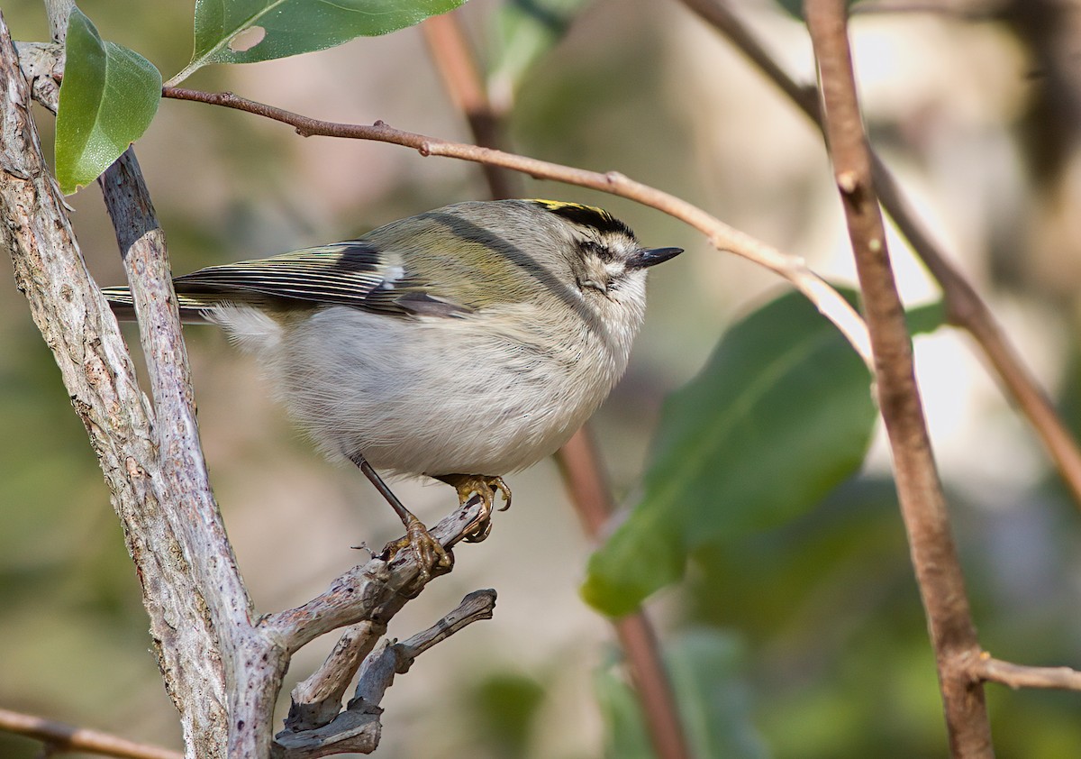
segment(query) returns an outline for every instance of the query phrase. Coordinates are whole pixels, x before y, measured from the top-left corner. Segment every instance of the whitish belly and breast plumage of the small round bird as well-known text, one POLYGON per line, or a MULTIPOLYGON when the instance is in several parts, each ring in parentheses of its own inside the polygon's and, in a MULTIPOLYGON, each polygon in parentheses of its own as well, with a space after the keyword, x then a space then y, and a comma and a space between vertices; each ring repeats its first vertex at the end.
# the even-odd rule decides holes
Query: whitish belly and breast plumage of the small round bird
POLYGON ((265 362, 328 454, 413 475, 505 475, 552 453, 623 374, 637 331, 573 319, 553 344, 528 327, 499 332, 532 324, 529 314, 398 319, 342 306, 283 322, 243 307, 212 319, 265 362))

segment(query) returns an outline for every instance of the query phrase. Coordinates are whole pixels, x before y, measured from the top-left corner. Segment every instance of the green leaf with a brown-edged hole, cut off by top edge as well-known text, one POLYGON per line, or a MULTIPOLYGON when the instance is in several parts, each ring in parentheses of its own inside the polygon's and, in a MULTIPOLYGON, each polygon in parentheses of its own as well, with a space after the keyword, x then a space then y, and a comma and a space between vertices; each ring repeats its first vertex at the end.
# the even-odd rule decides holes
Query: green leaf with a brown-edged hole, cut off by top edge
POLYGON ((175 84, 212 63, 257 63, 386 35, 465 0, 197 0, 196 48, 175 84))

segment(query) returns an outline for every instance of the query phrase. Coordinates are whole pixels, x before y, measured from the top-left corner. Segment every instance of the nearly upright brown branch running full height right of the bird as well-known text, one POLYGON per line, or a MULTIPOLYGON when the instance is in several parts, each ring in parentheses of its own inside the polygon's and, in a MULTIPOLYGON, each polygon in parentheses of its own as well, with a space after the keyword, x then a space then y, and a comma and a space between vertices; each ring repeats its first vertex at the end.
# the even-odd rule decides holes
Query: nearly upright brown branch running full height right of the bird
POLYGON ((950 750, 955 757, 991 757, 983 685, 966 676, 963 665, 978 656, 979 643, 950 534, 946 498, 916 382, 905 311, 875 196, 843 0, 806 0, 804 15, 818 62, 827 144, 855 254, 875 350, 879 409, 890 439, 897 497, 935 650, 950 750))

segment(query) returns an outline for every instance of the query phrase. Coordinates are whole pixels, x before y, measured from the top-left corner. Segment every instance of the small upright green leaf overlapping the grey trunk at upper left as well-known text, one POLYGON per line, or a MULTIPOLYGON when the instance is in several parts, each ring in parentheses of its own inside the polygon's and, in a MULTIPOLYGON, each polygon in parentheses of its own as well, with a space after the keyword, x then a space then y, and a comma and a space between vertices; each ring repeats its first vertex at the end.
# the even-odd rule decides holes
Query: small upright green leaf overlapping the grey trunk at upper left
POLYGON ((103 42, 74 8, 56 114, 56 181, 70 195, 96 179, 150 125, 161 74, 138 53, 103 42))

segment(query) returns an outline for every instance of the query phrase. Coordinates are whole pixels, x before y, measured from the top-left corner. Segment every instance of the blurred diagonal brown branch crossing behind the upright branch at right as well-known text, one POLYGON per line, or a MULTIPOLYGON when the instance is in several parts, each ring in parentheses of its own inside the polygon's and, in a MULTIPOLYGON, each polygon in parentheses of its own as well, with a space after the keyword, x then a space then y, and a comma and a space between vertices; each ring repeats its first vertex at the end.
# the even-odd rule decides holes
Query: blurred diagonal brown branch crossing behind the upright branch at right
MULTIPOLYGON (((819 130, 823 122, 817 90, 792 79, 765 50, 761 41, 735 14, 725 0, 681 0, 706 23, 724 35, 782 92, 811 119, 819 130)), ((1058 474, 1081 508, 1081 448, 1063 424, 1039 382, 1025 365, 1017 349, 980 297, 975 287, 927 232, 911 204, 882 160, 871 151, 875 189, 882 207, 893 218, 912 251, 943 289, 949 321, 975 339, 984 358, 1007 396, 1036 430, 1058 474)))

